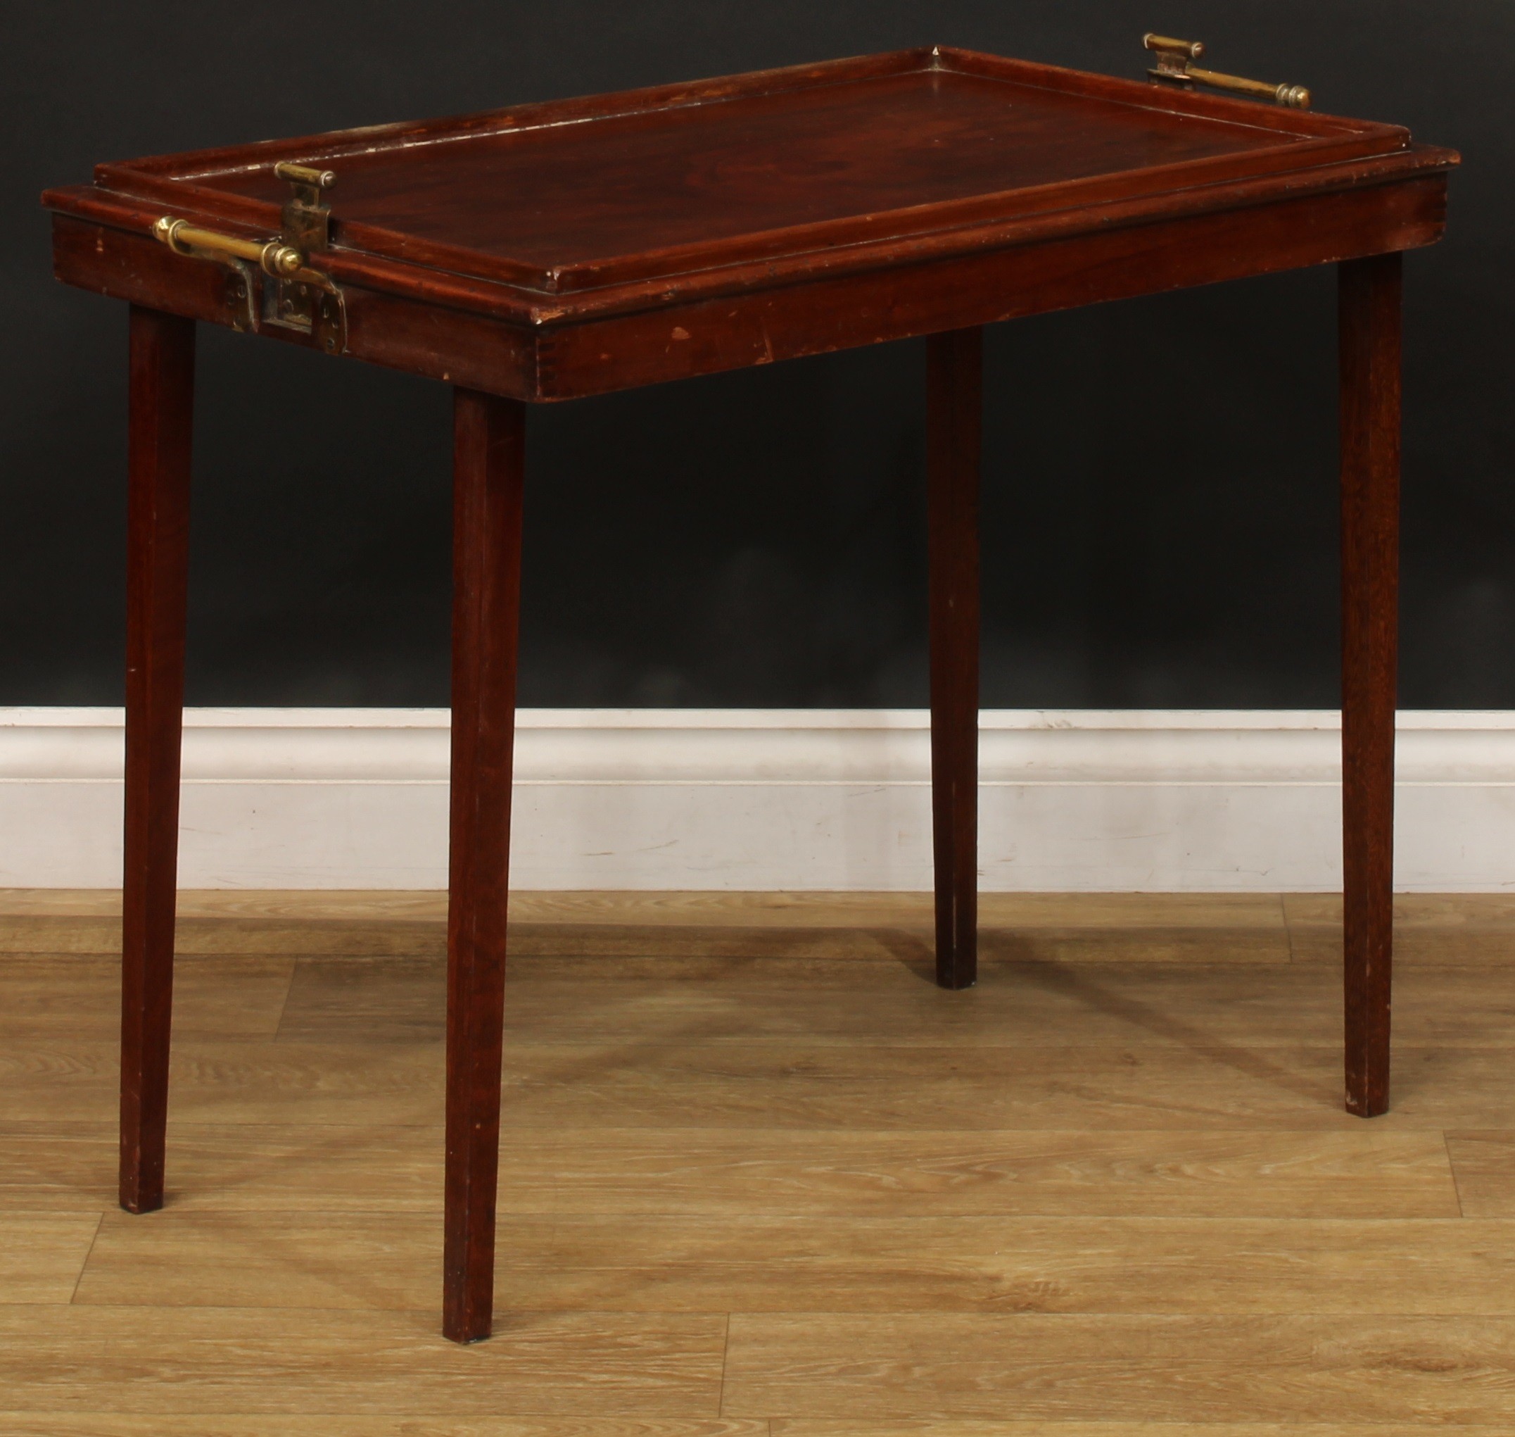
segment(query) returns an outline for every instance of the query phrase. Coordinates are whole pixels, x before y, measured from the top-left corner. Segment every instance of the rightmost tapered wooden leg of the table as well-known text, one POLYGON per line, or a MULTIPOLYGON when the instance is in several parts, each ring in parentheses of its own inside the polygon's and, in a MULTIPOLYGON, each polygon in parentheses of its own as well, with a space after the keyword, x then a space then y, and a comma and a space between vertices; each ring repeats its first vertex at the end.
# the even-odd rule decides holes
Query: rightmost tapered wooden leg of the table
POLYGON ((1341 265, 1342 852, 1347 1111, 1389 1107, 1400 561, 1398 255, 1341 265))

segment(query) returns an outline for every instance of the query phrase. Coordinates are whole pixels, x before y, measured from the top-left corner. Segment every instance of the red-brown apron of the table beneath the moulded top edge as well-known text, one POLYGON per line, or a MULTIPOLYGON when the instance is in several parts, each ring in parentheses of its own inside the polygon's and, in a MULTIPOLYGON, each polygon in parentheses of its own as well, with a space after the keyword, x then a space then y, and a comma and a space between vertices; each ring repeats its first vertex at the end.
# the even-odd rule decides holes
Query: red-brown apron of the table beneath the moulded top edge
MULTIPOLYGON (((347 355, 511 399, 577 399, 1417 249, 1441 238, 1445 206, 1447 176, 1433 173, 535 327, 344 285, 347 355)), ((230 324, 220 265, 144 233, 62 214, 53 224, 61 280, 230 324)))

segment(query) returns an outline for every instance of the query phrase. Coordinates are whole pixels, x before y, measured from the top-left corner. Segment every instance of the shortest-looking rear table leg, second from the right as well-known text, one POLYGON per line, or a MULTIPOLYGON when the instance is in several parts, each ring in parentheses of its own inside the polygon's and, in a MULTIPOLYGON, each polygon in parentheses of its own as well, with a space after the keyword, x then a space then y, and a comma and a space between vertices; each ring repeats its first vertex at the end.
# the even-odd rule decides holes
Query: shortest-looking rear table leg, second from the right
POLYGON ((983 332, 926 341, 936 982, 979 978, 979 446, 983 332))

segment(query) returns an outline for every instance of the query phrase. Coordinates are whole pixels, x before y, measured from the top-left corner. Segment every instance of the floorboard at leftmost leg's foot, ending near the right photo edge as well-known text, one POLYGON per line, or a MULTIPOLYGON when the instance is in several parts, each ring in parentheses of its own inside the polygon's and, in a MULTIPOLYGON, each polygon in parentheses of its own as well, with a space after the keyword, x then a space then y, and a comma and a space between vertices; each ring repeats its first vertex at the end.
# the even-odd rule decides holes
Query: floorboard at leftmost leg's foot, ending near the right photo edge
MULTIPOLYGON (((435 1213, 432 1126, 170 1125, 171 1211, 435 1213)), ((0 1211, 114 1205, 106 1125, 0 1125, 0 1211)), ((512 1129, 500 1210, 700 1219, 1454 1217, 1436 1129, 512 1129)), ((1509 1214, 1515 1216, 1515 1214, 1509 1214)))

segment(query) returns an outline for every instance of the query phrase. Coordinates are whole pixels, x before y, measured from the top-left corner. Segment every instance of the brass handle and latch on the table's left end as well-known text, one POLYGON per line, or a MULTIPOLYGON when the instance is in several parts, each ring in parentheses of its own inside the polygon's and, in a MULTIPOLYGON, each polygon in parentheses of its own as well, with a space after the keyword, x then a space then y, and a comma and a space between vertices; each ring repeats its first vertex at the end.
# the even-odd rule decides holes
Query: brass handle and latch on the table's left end
POLYGON ((311 250, 330 240, 330 206, 321 191, 336 183, 330 170, 280 161, 274 173, 288 180, 291 196, 280 211, 277 240, 242 240, 164 215, 153 236, 176 255, 226 265, 226 305, 232 327, 258 332, 264 324, 309 337, 329 355, 347 349, 347 306, 329 274, 311 267, 311 250))

